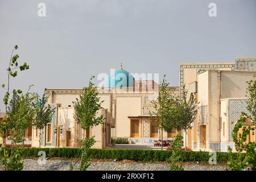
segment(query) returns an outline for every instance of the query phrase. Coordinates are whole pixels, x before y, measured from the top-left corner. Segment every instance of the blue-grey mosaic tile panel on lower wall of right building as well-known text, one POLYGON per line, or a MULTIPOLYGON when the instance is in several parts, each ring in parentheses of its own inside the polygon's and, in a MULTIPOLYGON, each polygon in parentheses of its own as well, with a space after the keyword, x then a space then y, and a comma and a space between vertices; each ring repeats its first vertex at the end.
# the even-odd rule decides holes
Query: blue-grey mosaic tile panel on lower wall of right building
POLYGON ((229 100, 229 141, 233 141, 232 131, 235 123, 240 118, 242 112, 247 112, 246 99, 229 100))

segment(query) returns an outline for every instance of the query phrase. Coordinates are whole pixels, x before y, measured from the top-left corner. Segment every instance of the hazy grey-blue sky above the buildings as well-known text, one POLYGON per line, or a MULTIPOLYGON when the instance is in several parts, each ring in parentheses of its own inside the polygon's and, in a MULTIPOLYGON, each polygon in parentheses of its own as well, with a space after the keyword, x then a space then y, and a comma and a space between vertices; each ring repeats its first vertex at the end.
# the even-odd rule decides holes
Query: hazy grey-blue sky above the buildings
POLYGON ((11 89, 82 88, 120 60, 131 73, 166 74, 177 86, 179 63, 256 56, 256 1, 0 0, 1 84, 15 44, 30 69, 11 89), (40 2, 46 17, 38 16, 40 2), (212 2, 217 17, 208 15, 212 2))

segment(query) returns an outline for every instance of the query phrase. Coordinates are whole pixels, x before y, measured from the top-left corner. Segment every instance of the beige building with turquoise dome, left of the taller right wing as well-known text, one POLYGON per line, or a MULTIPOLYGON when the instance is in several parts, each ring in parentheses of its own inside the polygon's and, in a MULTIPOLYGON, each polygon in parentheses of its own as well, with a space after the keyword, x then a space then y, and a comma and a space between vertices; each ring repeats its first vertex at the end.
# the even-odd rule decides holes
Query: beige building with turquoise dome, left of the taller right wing
MULTIPOLYGON (((153 109, 152 100, 158 96, 159 85, 154 80, 135 80, 125 69, 121 68, 110 75, 105 88, 97 88, 102 103, 99 114, 106 115, 104 124, 85 131, 87 136, 95 136, 93 148, 110 146, 111 138, 125 137, 131 143, 152 144, 158 140, 159 130, 154 120, 150 119, 153 109), (114 77, 114 79, 113 79, 114 77), (122 77, 122 85, 118 84, 122 77), (118 85, 118 86, 117 86, 118 85)), ((179 87, 173 87, 179 96, 179 87)), ((76 122, 73 101, 79 98, 81 89, 46 89, 48 103, 55 109, 52 122, 42 131, 42 147, 78 147, 84 137, 80 124, 76 122)), ((164 138, 171 138, 176 131, 163 133, 164 138)), ((39 131, 33 129, 32 147, 39 146, 39 131)))

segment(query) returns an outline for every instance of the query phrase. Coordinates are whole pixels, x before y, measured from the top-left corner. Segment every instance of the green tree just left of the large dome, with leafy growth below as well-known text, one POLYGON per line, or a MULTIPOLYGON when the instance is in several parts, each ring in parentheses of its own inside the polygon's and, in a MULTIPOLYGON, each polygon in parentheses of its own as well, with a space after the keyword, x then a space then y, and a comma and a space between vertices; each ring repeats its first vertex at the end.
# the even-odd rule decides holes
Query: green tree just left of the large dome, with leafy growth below
MULTIPOLYGON (((105 119, 103 115, 97 117, 97 113, 101 109, 101 104, 104 101, 100 101, 98 91, 94 88, 94 84, 92 83, 92 78, 94 77, 90 78, 89 86, 82 89, 83 92, 80 95, 80 98, 76 98, 76 101, 73 102, 76 110, 74 117, 84 130, 88 130, 90 127, 99 125, 104 122, 105 119)), ((85 171, 90 165, 88 150, 94 143, 94 137, 84 138, 80 142, 80 146, 82 148, 80 169, 82 171, 85 171)))

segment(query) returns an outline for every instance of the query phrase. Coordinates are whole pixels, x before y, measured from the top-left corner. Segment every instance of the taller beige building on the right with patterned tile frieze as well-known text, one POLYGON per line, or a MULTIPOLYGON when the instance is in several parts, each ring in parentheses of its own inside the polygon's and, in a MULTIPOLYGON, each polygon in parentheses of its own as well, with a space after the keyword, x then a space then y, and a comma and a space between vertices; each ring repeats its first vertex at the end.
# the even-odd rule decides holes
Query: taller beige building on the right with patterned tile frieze
POLYGON ((241 111, 246 111, 246 81, 255 79, 255 71, 255 58, 236 59, 234 64, 182 64, 180 84, 186 84, 197 98, 187 146, 206 151, 227 151, 228 146, 234 149, 232 130, 241 111))

